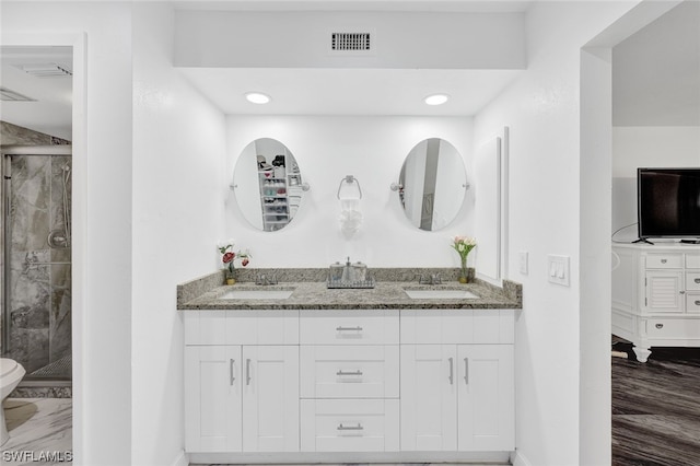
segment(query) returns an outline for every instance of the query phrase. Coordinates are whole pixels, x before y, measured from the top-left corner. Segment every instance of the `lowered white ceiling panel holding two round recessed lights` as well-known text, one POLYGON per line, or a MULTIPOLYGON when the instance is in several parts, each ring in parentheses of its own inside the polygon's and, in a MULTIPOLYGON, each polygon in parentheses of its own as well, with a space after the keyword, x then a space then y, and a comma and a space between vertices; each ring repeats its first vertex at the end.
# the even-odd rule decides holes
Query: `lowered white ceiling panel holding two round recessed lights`
POLYGON ((522 70, 180 68, 228 115, 474 115, 522 70), (272 101, 256 105, 245 93, 272 101), (451 100, 429 106, 423 98, 451 100))

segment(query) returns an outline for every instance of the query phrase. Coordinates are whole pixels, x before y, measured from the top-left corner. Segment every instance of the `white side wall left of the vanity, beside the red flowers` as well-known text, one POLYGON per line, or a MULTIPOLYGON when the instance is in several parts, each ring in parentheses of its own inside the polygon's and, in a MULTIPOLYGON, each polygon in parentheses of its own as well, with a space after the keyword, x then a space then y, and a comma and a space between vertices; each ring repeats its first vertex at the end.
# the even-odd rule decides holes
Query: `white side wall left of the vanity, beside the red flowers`
POLYGON ((133 7, 130 464, 143 466, 184 461, 175 286, 215 268, 230 183, 224 116, 172 67, 173 24, 171 7, 133 7))

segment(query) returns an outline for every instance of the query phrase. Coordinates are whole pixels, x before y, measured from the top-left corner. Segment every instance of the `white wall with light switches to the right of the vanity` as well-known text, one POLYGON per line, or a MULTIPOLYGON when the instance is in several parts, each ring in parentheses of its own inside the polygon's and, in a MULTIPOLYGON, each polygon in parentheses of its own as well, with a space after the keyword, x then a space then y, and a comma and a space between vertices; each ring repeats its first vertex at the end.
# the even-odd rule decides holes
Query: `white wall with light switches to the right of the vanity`
POLYGON ((632 4, 533 4, 527 73, 475 118, 477 145, 510 127, 509 269, 524 286, 515 464, 578 465, 580 448, 609 448, 579 439, 580 429, 600 428, 579 422, 580 49, 632 4), (517 272, 521 251, 528 275, 517 272), (548 282, 548 254, 571 257, 571 287, 548 282))

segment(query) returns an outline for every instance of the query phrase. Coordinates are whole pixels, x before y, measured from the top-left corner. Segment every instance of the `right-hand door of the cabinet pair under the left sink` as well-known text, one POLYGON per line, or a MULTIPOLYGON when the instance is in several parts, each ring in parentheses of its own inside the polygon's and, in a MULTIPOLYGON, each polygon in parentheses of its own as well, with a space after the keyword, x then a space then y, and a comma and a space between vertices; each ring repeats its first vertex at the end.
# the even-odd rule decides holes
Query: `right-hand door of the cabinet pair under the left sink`
POLYGON ((299 452, 299 347, 243 347, 243 450, 299 452))

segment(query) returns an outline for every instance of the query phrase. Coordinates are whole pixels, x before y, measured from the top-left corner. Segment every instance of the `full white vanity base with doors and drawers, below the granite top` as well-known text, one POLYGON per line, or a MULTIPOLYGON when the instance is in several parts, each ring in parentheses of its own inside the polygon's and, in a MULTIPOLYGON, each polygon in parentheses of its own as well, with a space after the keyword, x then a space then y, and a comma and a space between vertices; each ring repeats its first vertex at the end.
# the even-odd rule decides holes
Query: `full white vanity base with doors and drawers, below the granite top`
POLYGON ((324 463, 515 450, 514 310, 186 311, 184 322, 189 453, 324 463))

